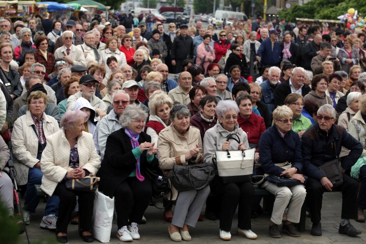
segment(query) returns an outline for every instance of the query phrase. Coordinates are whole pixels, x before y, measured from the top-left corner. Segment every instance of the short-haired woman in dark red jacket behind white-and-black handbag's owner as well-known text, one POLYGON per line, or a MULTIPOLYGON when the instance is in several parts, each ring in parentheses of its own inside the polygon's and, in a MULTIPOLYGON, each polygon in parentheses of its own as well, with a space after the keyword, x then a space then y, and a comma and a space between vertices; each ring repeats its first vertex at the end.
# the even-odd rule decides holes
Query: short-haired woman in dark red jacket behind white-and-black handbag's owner
POLYGON ((257 148, 259 138, 266 130, 264 119, 253 113, 253 98, 250 95, 240 95, 235 101, 239 107, 237 123, 240 128, 247 133, 250 147, 257 148))

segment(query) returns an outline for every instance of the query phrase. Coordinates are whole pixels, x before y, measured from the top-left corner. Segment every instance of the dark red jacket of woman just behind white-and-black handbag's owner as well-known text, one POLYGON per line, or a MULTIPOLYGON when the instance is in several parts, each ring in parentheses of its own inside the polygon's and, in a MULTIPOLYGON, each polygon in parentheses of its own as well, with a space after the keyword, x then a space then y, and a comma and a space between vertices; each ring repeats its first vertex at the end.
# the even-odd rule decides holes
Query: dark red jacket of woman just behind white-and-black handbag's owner
POLYGON ((248 119, 243 119, 239 114, 237 122, 240 128, 247 133, 248 142, 257 144, 265 131, 264 118, 252 112, 248 119))

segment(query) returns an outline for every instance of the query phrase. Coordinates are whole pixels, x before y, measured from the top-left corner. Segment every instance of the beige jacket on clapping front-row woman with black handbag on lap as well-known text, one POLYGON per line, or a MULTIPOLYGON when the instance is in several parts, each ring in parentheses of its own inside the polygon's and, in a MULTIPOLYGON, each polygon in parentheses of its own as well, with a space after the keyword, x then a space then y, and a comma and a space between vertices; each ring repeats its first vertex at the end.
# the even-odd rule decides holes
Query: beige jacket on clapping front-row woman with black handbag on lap
MULTIPOLYGON (((186 154, 196 145, 202 148, 201 135, 198 128, 190 126, 185 136, 180 135, 173 127, 168 126, 159 133, 158 138, 158 156, 159 165, 164 172, 169 172, 174 165, 188 165, 188 163, 201 163, 202 150, 197 158, 193 160, 186 160, 186 154)), ((176 199, 178 191, 171 187, 173 199, 176 199)))

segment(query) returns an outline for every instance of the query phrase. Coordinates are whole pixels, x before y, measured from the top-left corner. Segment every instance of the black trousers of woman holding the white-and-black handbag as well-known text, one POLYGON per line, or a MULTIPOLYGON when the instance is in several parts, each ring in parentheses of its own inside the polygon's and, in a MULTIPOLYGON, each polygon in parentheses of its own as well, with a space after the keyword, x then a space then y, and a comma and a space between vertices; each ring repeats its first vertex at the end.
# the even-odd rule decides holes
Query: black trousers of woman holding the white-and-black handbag
POLYGON ((223 184, 218 179, 216 192, 221 198, 220 229, 231 230, 232 220, 238 205, 238 227, 243 230, 252 229, 251 212, 254 199, 252 182, 223 184))

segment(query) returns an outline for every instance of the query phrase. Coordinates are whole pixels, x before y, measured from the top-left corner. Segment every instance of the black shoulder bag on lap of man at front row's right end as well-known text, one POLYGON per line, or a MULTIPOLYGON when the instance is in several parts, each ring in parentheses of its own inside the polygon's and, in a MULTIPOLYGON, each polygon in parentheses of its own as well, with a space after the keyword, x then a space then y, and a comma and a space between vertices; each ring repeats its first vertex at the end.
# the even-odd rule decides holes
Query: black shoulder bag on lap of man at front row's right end
POLYGON ((334 140, 333 146, 335 150, 335 159, 329 160, 318 167, 318 169, 325 174, 329 179, 333 188, 340 187, 343 184, 343 175, 341 172, 341 167, 338 162, 337 148, 335 147, 334 140))

